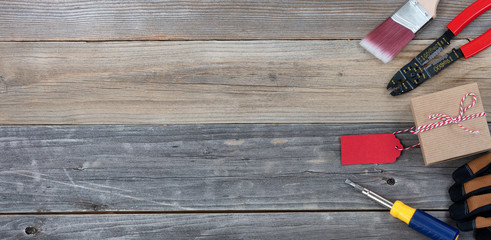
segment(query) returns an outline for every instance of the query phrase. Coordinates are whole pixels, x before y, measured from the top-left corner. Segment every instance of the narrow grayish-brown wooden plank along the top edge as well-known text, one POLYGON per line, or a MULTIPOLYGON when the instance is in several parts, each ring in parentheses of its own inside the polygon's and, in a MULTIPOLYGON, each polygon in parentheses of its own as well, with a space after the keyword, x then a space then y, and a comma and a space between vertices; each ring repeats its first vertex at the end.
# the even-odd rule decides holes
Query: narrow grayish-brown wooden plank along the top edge
MULTIPOLYGON (((0 40, 361 39, 407 0, 1 1, 0 40)), ((435 39, 474 0, 441 1, 435 39)), ((458 36, 489 28, 483 14, 458 36)))

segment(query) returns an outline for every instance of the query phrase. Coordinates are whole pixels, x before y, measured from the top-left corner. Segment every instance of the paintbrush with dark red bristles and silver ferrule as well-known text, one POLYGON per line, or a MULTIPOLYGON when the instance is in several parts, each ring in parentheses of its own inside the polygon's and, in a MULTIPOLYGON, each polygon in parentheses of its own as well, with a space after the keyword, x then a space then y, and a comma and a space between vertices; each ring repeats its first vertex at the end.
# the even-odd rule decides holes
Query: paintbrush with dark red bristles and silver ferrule
POLYGON ((390 62, 436 16, 440 0, 409 0, 361 40, 360 45, 384 63, 390 62))

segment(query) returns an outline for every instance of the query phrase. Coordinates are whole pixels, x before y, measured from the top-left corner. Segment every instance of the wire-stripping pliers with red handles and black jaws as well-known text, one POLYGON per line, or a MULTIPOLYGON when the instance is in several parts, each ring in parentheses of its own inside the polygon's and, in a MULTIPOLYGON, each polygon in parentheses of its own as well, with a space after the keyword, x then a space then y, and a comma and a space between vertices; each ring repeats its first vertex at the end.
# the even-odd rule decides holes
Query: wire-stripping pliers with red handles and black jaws
POLYGON ((424 67, 429 61, 438 55, 446 46, 450 45, 452 38, 462 31, 469 23, 479 15, 491 8, 491 0, 477 0, 462 11, 448 25, 448 30, 411 62, 402 67, 390 80, 387 89, 392 96, 409 92, 418 87, 424 81, 435 76, 453 62, 464 57, 470 58, 491 45, 491 28, 478 38, 452 49, 450 53, 424 67))

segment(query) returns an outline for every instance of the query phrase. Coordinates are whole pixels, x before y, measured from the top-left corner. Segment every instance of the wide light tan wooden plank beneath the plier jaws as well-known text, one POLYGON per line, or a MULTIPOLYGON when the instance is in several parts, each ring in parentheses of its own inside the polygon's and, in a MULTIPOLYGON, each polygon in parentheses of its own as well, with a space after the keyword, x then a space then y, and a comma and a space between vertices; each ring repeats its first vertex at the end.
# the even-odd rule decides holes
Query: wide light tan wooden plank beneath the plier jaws
POLYGON ((410 98, 470 82, 489 111, 489 49, 388 94, 388 80, 429 43, 381 64, 342 40, 5 42, 0 124, 409 123, 410 98))

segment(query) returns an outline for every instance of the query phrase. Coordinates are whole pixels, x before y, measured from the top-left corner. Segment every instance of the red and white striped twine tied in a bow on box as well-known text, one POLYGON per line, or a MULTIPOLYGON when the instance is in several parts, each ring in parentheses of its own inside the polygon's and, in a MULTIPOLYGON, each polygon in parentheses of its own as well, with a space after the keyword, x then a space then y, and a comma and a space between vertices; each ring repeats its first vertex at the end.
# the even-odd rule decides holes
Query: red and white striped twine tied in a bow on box
MULTIPOLYGON (((418 134, 418 133, 426 132, 426 131, 429 131, 431 129, 434 129, 434 128, 437 128, 437 127, 441 127, 441 126, 445 126, 445 125, 448 125, 448 124, 451 124, 451 123, 457 124, 457 126, 459 126, 460 128, 462 128, 466 132, 469 132, 469 133, 479 133, 479 131, 469 130, 468 128, 466 128, 466 127, 462 126, 462 124, 460 124, 460 122, 463 122, 463 121, 466 121, 466 120, 469 120, 469 119, 486 116, 486 112, 475 113, 475 114, 464 116, 465 112, 467 110, 469 110, 470 108, 474 107, 474 105, 476 103, 477 103, 477 97, 476 97, 476 95, 474 93, 467 93, 462 98, 462 100, 460 101, 460 107, 459 107, 460 112, 459 112, 459 115, 457 117, 452 118, 450 116, 447 116, 447 115, 441 114, 441 113, 433 114, 433 115, 428 116, 428 118, 429 119, 441 120, 441 121, 440 122, 436 122, 436 123, 426 124, 426 125, 419 126, 419 127, 411 127, 411 128, 405 129, 405 130, 396 131, 393 134, 395 135, 395 134, 403 133, 403 132, 411 132, 413 134, 418 134), (467 106, 467 107, 464 108, 464 103, 465 103, 465 100, 467 99, 468 96, 472 96, 472 103, 471 103, 471 105, 469 105, 469 106, 467 106)), ((398 147, 396 147, 396 149, 399 150, 399 151, 404 151, 404 150, 408 150, 408 149, 411 149, 411 148, 414 148, 414 147, 417 147, 417 146, 419 146, 419 143, 418 144, 414 144, 412 146, 409 146, 407 148, 398 148, 398 147)))

